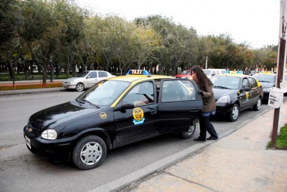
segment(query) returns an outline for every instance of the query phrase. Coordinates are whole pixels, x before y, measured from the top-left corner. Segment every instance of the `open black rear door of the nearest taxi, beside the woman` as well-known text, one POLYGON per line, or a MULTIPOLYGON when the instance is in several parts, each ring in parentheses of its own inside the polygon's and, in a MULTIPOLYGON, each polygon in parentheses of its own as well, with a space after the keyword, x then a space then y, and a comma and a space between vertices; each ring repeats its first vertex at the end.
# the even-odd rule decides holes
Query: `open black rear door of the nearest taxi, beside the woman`
POLYGON ((198 86, 188 78, 162 79, 159 88, 159 132, 187 131, 202 110, 198 86))

